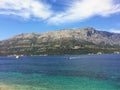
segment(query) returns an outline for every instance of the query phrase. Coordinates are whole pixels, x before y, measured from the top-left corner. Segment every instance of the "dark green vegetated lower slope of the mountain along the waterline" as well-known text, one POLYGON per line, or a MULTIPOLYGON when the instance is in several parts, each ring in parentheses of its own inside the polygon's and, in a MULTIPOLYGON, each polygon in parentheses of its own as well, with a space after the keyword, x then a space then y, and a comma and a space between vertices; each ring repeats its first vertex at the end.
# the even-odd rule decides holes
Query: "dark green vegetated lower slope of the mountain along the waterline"
POLYGON ((15 45, 7 48, 7 51, 0 55, 63 55, 63 54, 97 54, 97 53, 118 53, 119 46, 95 45, 89 42, 78 42, 75 40, 63 40, 30 44, 15 45))

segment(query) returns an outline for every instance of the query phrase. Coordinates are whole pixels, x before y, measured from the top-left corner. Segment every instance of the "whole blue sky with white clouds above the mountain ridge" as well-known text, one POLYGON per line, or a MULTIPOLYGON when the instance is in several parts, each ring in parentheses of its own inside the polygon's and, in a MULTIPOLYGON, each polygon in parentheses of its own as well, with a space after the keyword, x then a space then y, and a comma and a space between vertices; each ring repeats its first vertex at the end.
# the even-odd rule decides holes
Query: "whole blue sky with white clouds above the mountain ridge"
POLYGON ((0 40, 82 27, 120 33, 120 0, 0 0, 0 40))

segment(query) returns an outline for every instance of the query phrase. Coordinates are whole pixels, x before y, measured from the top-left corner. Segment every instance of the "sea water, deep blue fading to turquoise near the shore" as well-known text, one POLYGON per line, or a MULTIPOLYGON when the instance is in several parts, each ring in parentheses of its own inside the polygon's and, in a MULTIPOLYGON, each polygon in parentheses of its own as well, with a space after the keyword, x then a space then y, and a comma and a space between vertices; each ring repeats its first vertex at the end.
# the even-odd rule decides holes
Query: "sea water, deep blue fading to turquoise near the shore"
POLYGON ((120 55, 0 57, 0 90, 120 90, 120 55))

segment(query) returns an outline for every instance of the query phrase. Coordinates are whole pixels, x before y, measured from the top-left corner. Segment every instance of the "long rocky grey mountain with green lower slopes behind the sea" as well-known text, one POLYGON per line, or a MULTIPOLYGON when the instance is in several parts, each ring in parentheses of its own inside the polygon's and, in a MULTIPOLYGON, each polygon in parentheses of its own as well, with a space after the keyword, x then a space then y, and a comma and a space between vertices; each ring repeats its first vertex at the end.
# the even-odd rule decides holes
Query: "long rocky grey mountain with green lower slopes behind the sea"
POLYGON ((0 55, 88 54, 120 51, 120 34, 92 27, 19 34, 0 41, 0 55))

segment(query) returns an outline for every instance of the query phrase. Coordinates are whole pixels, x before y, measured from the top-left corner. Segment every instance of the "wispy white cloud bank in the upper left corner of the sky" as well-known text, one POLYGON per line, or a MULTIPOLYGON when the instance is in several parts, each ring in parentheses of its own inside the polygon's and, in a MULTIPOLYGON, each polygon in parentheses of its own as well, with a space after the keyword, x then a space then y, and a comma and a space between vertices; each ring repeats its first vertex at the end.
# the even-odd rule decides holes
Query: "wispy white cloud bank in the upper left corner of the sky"
POLYGON ((0 0, 0 14, 46 19, 52 11, 48 4, 38 0, 0 0))

